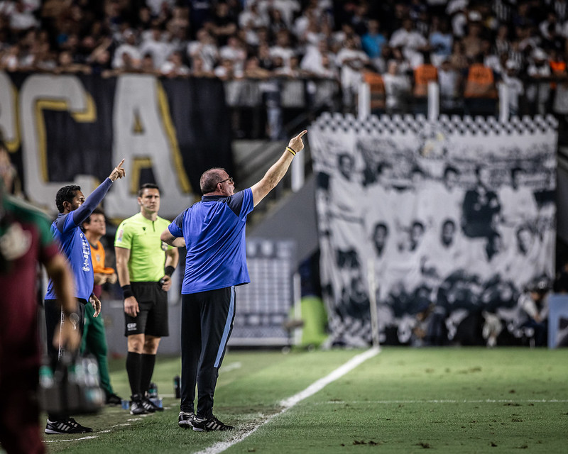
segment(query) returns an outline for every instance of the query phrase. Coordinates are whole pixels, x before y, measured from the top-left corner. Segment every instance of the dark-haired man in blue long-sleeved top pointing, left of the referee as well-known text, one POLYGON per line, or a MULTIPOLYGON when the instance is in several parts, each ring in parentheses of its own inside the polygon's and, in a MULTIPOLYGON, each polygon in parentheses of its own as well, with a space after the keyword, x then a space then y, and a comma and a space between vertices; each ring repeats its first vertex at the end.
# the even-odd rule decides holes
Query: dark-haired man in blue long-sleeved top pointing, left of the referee
MULTIPOLYGON (((79 311, 75 324, 82 333, 84 305, 92 304, 94 316, 98 316, 101 310, 101 301, 93 294, 94 273, 91 261, 91 248, 87 237, 84 236, 80 226, 92 214, 97 205, 101 203, 109 191, 112 183, 117 178, 124 177, 124 169, 120 164, 114 167, 111 175, 85 199, 81 188, 75 185, 64 186, 55 196, 55 204, 58 207, 58 218, 51 224, 51 232, 58 241, 59 248, 69 263, 75 277, 75 297, 79 301, 79 311)), ((45 326, 48 339, 53 338, 55 330, 60 325, 61 309, 55 294, 53 280, 48 283, 48 292, 45 294, 45 326)), ((62 345, 56 348, 48 341, 48 355, 55 365, 60 359, 62 345)), ((45 433, 85 433, 92 432, 92 428, 84 427, 75 419, 66 414, 48 414, 48 423, 45 433)))

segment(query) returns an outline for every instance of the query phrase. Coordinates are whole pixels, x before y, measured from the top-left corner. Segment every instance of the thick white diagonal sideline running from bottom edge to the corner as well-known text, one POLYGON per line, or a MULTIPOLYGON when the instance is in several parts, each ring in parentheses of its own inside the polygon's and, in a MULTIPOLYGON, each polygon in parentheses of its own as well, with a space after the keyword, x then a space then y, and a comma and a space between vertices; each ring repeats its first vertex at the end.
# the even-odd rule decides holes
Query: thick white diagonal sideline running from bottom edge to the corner
POLYGON ((209 446, 209 448, 198 451, 196 454, 219 454, 219 453, 222 453, 224 450, 231 448, 232 445, 236 445, 236 443, 240 443, 245 438, 247 438, 249 435, 254 433, 257 428, 263 426, 264 424, 268 423, 273 418, 275 418, 275 416, 278 416, 280 414, 285 413, 286 411, 291 409, 293 406, 295 406, 295 404, 297 404, 298 402, 302 402, 302 400, 304 400, 307 397, 310 397, 313 394, 315 394, 316 392, 322 390, 325 386, 327 386, 327 384, 334 382, 335 380, 338 380, 339 378, 343 377, 347 372, 354 370, 355 367, 360 365, 362 362, 365 362, 369 358, 373 358, 373 356, 377 355, 380 351, 381 350, 378 347, 370 348, 369 350, 366 350, 366 352, 354 356, 349 361, 347 361, 344 365, 338 367, 336 370, 331 372, 326 377, 320 378, 320 380, 317 380, 317 382, 310 384, 310 386, 307 387, 306 389, 304 389, 303 391, 300 391, 297 394, 294 394, 292 397, 288 397, 288 399, 284 399, 284 400, 280 401, 280 406, 283 406, 284 408, 281 409, 280 411, 278 411, 278 413, 275 413, 271 416, 268 416, 263 421, 256 423, 253 426, 253 428, 249 429, 248 431, 241 433, 240 435, 237 435, 237 436, 231 438, 230 440, 215 443, 214 445, 209 446))

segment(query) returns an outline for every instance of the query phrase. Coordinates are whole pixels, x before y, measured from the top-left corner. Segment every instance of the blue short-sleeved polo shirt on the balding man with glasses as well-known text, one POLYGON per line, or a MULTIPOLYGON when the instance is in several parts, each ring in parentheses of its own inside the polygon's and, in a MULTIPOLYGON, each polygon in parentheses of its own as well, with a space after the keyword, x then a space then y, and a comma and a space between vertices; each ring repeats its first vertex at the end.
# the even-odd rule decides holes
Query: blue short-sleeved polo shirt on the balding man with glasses
POLYGON ((168 226, 185 239, 185 275, 182 294, 248 284, 246 216, 253 211, 253 192, 232 196, 202 196, 168 226))

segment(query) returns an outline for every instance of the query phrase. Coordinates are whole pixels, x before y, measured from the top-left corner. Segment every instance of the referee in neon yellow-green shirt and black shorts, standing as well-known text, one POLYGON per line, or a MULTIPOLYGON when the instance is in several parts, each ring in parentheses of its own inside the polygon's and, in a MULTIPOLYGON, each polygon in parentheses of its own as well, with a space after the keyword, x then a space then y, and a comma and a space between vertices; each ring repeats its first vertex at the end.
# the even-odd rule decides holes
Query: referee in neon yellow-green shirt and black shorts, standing
POLYGON ((169 221, 158 216, 160 189, 143 184, 138 190, 140 213, 125 219, 116 231, 116 271, 124 293, 128 337, 126 372, 132 392, 131 414, 162 410, 148 399, 160 338, 169 336, 168 290, 178 265, 178 250, 160 240, 169 221))

